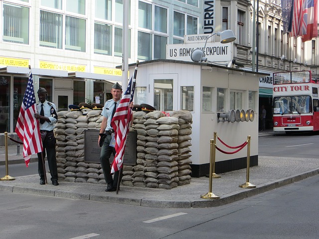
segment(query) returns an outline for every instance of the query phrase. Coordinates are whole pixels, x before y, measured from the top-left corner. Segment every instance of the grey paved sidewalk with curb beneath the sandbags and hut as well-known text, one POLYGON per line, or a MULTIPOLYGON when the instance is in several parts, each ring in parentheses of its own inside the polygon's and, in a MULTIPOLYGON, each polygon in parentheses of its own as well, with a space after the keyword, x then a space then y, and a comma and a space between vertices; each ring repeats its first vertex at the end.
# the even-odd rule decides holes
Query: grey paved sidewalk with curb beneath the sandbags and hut
MULTIPOLYGON (((263 134, 265 136, 266 132, 263 131, 263 134)), ((1 149, 1 160, 2 153, 1 149)), ((14 153, 16 154, 16 151, 14 153)), ((9 156, 9 164, 12 158, 13 155, 9 156)), ((145 207, 203 208, 228 204, 317 174, 319 174, 318 159, 259 156, 259 165, 250 168, 249 182, 256 185, 256 188, 239 187, 246 182, 246 169, 222 173, 219 174, 221 178, 213 179, 212 184, 212 193, 220 199, 200 198, 200 195, 209 192, 207 177, 191 178, 190 184, 170 190, 121 186, 119 193, 116 194, 116 192, 105 192, 106 185, 100 184, 60 180, 59 186, 53 186, 49 174, 47 174, 49 183, 40 185, 38 175, 29 175, 16 177, 12 181, 0 181, 0 191, 145 207)))

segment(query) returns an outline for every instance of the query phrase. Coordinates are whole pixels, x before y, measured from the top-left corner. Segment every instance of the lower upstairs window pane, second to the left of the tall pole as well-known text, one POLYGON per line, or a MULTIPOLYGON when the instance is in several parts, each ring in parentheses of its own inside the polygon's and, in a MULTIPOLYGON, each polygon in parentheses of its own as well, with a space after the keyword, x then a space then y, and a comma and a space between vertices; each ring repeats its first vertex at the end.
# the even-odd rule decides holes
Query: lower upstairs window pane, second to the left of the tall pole
POLYGON ((95 22, 94 53, 112 55, 112 26, 95 22))

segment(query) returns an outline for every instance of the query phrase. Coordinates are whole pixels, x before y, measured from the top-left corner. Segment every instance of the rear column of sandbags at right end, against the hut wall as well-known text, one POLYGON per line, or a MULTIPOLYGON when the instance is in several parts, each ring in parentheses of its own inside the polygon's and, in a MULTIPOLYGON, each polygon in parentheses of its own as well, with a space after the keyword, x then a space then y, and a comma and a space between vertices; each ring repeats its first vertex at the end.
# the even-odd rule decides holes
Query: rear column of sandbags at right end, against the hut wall
POLYGON ((179 130, 178 130, 178 185, 184 185, 190 183, 191 179, 191 167, 189 164, 192 163, 190 160, 191 150, 191 123, 192 115, 188 111, 174 111, 171 116, 178 119, 179 130))

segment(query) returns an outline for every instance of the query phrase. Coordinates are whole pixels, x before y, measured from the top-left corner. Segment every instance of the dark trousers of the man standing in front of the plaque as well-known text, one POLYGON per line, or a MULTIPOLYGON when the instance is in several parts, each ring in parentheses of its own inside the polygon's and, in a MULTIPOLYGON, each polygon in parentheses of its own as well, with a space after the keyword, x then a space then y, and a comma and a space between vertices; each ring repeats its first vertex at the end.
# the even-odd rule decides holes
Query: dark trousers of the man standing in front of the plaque
POLYGON ((115 147, 110 146, 111 138, 112 136, 111 134, 109 134, 104 139, 104 143, 101 148, 100 162, 103 169, 105 182, 107 182, 108 184, 113 182, 113 187, 117 187, 118 180, 119 180, 119 171, 116 171, 114 173, 114 180, 113 180, 112 174, 111 174, 110 161, 109 161, 111 154, 113 153, 113 156, 115 156, 115 153, 116 153, 115 147))

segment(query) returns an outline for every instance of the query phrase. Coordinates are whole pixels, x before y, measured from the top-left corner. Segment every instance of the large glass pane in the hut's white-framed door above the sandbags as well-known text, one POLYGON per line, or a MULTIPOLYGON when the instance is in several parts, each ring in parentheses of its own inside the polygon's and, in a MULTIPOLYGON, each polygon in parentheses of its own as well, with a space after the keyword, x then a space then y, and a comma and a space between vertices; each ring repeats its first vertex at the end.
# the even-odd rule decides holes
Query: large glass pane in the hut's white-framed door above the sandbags
POLYGON ((154 108, 158 111, 173 110, 173 79, 154 80, 154 108))

